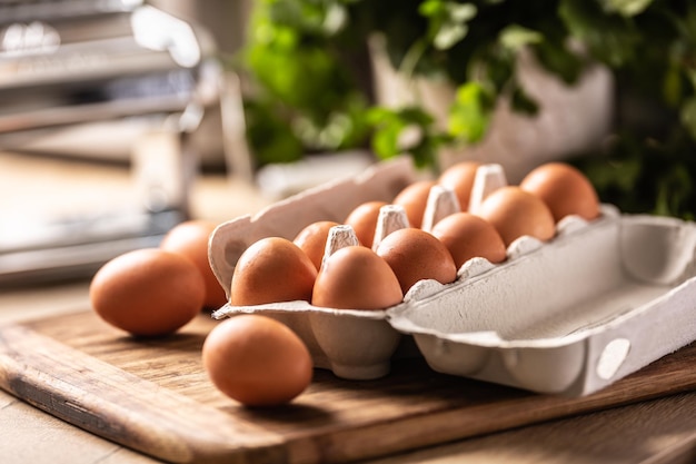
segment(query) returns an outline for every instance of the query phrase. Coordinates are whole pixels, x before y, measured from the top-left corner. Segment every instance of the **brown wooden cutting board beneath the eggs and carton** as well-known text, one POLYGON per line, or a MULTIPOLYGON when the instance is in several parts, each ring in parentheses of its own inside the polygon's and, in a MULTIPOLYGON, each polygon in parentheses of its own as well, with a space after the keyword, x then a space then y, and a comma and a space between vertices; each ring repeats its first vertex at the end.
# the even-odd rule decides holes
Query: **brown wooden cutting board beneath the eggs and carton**
POLYGON ((76 426, 177 463, 337 463, 625 405, 696 387, 696 345, 583 398, 538 395, 394 363, 377 381, 316 371, 294 403, 240 406, 200 362, 216 324, 135 339, 91 312, 0 327, 0 387, 76 426))

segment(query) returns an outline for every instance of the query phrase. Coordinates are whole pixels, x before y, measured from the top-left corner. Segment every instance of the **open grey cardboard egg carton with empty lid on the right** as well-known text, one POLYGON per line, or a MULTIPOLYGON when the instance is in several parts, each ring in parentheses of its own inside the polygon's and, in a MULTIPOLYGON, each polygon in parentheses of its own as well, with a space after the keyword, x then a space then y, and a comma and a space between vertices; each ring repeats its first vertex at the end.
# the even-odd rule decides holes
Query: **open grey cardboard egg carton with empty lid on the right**
MULTIPOLYGON (((504 182, 499 170, 493 170, 497 184, 490 170, 479 170, 473 197, 504 182)), ((210 265, 229 296, 235 264, 256 240, 292 239, 317 220, 341 223, 361 203, 388 203, 417 178, 407 158, 381 162, 221 224, 210 238, 210 265)), ((256 313, 281 320, 317 367, 347 379, 385 376, 394 358, 422 356, 445 374, 587 395, 696 339, 696 225, 612 205, 600 210, 590 221, 561 219, 548 241, 518 238, 503 263, 473 258, 450 284, 421 280, 384 310, 281 302, 228 304, 213 317, 256 313)))

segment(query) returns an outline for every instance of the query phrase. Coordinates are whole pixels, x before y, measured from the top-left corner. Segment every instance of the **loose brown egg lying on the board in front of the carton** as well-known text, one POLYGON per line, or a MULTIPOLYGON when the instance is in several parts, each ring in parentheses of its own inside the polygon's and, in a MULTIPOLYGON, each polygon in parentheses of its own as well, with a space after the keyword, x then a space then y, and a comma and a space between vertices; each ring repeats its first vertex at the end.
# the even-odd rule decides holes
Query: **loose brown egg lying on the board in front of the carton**
POLYGON ((302 340, 278 320, 239 315, 206 337, 202 363, 212 384, 248 406, 292 401, 311 382, 312 361, 302 340))

